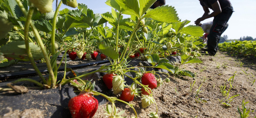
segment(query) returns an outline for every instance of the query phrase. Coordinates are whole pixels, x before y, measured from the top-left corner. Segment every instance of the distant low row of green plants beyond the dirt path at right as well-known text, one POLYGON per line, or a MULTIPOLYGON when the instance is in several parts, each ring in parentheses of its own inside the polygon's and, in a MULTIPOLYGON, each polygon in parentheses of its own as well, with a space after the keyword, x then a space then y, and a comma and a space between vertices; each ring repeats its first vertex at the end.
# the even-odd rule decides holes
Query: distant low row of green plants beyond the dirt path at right
POLYGON ((255 56, 256 41, 232 41, 219 44, 220 51, 231 55, 255 56))

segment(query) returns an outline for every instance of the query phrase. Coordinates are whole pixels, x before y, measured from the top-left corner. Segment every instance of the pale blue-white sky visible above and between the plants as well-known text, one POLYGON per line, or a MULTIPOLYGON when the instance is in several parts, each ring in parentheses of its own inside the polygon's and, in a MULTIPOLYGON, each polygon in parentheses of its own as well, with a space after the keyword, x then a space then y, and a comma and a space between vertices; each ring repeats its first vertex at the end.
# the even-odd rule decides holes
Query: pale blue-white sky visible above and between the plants
MULTIPOLYGON (((86 4, 94 13, 105 13, 107 11, 111 11, 111 7, 106 5, 105 2, 106 0, 77 0, 77 3, 86 4)), ((230 2, 232 3, 235 12, 228 21, 228 29, 222 34, 222 36, 228 35, 228 39, 239 39, 242 36, 251 36, 256 38, 256 0, 230 0, 230 2)), ((53 9, 55 10, 56 1, 54 0, 53 3, 53 9)), ((190 20, 191 23, 188 25, 194 25, 194 21, 197 18, 202 17, 204 14, 203 8, 198 0, 166 0, 166 5, 174 6, 179 14, 179 18, 182 20, 190 20)), ((62 4, 60 10, 64 8, 76 9, 62 4)), ((128 15, 124 15, 124 18, 128 17, 128 15)), ((212 20, 213 18, 209 18, 201 23, 212 20)), ((110 25, 108 24, 108 26, 110 25)))

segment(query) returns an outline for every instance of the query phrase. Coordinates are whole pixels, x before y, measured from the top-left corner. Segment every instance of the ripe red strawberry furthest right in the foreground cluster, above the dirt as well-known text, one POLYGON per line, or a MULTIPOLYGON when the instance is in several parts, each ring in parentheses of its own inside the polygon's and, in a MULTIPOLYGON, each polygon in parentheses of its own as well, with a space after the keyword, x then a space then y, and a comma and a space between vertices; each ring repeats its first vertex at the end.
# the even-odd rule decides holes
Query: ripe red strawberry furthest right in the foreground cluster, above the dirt
POLYGON ((143 85, 148 85, 149 88, 154 89, 157 86, 156 77, 152 73, 145 73, 141 77, 141 83, 143 85))

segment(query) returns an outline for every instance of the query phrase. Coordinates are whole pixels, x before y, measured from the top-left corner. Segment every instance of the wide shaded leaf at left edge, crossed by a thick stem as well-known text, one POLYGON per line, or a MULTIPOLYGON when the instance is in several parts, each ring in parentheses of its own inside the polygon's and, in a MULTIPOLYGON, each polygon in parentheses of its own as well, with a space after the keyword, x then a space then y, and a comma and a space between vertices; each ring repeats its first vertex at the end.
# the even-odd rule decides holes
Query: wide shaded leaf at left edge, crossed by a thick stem
MULTIPOLYGON (((42 50, 38 45, 30 42, 29 47, 33 58, 39 60, 43 58, 42 50)), ((26 46, 24 41, 12 41, 0 48, 0 51, 4 53, 4 56, 12 57, 22 61, 28 61, 26 46)))

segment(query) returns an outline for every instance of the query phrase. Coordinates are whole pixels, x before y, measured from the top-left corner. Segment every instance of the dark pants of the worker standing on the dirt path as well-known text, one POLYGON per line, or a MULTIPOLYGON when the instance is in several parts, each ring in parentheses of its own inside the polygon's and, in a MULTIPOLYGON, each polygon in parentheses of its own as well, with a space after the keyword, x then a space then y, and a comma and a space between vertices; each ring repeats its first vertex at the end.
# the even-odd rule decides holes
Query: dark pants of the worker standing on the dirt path
POLYGON ((208 52, 215 55, 221 34, 227 29, 226 24, 233 13, 233 7, 229 6, 222 9, 222 12, 214 17, 210 33, 208 34, 208 52))

